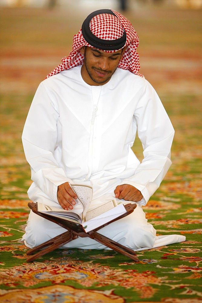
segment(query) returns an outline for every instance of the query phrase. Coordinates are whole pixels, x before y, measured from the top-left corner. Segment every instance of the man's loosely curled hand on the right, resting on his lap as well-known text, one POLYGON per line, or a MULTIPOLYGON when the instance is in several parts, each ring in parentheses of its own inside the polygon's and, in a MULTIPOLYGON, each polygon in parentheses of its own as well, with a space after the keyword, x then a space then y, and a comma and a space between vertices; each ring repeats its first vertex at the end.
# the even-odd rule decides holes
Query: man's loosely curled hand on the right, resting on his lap
POLYGON ((124 199, 125 201, 138 202, 143 198, 141 191, 130 184, 116 186, 114 193, 116 198, 124 199))

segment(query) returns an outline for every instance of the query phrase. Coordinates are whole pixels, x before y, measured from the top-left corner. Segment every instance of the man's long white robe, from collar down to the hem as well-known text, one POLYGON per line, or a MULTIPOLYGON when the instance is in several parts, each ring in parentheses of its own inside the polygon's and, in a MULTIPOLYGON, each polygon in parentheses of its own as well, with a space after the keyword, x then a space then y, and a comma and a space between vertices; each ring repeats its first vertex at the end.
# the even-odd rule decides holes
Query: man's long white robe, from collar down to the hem
MULTIPOLYGON (((141 205, 148 202, 171 165, 174 129, 170 119, 144 78, 117 68, 108 83, 91 86, 80 71, 78 66, 47 78, 34 96, 22 134, 33 180, 28 196, 34 202, 57 206, 57 186, 76 182, 93 187, 94 207, 114 198, 117 185, 133 185, 144 197, 136 210, 100 233, 134 250, 155 247, 155 229, 147 223, 141 205), (131 149, 136 132, 144 150, 142 163, 131 149), (129 243, 131 233, 138 233, 139 240, 129 243)), ((31 212, 23 240, 34 247, 62 232, 60 226, 31 212)), ((167 238, 160 242, 185 240, 178 235, 167 238)), ((84 239, 65 246, 104 248, 84 239)))

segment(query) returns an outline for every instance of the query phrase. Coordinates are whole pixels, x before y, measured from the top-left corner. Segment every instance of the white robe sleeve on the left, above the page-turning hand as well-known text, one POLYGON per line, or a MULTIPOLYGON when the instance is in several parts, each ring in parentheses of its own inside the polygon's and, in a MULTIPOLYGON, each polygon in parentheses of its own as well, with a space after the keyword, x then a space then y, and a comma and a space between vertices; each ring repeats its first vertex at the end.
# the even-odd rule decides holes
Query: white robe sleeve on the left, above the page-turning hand
POLYGON ((25 157, 31 166, 32 181, 54 201, 57 201, 57 186, 71 182, 54 158, 58 118, 57 104, 42 82, 28 112, 22 143, 25 157))

